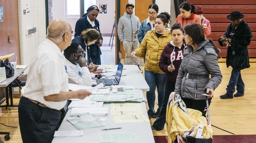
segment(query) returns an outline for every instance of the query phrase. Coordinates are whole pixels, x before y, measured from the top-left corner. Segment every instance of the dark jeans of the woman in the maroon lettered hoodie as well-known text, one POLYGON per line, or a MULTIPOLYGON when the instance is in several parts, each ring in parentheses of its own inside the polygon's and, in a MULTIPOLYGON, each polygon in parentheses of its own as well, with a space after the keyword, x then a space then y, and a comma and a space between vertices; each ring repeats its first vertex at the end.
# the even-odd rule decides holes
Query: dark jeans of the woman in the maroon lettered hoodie
POLYGON ((170 82, 170 81, 168 82, 166 80, 165 85, 164 85, 163 104, 162 104, 162 107, 161 107, 158 117, 156 118, 155 122, 153 123, 153 127, 156 130, 161 130, 164 128, 164 124, 166 122, 166 108, 167 108, 168 99, 169 99, 171 92, 173 92, 174 89, 175 89, 175 83, 170 82))

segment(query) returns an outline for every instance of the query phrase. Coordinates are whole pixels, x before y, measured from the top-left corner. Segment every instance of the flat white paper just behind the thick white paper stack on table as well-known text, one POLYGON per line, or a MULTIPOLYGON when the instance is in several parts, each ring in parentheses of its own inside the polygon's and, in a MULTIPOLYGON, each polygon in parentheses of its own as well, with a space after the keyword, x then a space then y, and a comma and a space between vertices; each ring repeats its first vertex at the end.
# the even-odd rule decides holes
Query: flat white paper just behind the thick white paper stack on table
POLYGON ((103 102, 96 101, 72 101, 68 108, 73 107, 103 107, 103 102))

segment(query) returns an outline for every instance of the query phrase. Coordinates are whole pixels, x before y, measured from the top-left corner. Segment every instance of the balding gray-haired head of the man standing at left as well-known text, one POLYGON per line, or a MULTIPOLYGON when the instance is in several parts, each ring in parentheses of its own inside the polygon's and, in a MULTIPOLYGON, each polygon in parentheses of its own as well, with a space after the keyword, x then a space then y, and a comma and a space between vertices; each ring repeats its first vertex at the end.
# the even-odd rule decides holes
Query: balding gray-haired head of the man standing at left
MULTIPOLYGON (((53 23, 50 23, 50 25, 47 27, 47 37, 54 38, 55 43, 60 43, 63 40, 63 35, 68 32, 70 25, 64 21, 59 22, 59 20, 56 20, 54 22, 57 22, 56 25, 53 26, 53 23), (51 25, 52 24, 52 25, 51 25)), ((55 24, 55 23, 54 23, 55 24)))

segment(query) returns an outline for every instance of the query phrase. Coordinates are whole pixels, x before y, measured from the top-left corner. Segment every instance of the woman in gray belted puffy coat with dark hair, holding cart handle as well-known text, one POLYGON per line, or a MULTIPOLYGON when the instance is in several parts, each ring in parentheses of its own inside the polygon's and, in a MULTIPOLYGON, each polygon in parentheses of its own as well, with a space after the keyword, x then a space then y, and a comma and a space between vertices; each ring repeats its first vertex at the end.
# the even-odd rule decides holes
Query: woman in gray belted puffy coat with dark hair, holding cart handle
POLYGON ((204 30, 197 23, 184 27, 184 37, 187 47, 184 49, 175 92, 181 95, 187 108, 203 113, 206 102, 202 94, 208 93, 210 102, 213 91, 222 79, 218 64, 219 49, 211 40, 205 39, 204 30))

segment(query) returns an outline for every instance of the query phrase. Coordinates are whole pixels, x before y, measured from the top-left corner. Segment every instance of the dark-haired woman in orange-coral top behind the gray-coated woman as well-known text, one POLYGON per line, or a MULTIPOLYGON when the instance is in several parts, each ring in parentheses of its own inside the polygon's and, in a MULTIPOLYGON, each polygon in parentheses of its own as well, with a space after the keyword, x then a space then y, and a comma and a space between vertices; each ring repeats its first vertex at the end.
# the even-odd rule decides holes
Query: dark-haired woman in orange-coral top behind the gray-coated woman
POLYGON ((189 23, 198 23, 201 25, 201 18, 196 15, 195 6, 188 3, 183 2, 179 6, 180 14, 175 20, 175 23, 180 23, 182 28, 184 28, 189 23))

